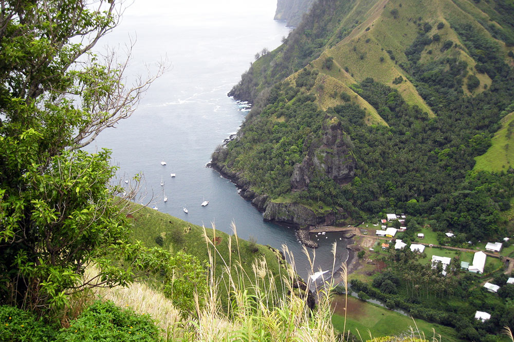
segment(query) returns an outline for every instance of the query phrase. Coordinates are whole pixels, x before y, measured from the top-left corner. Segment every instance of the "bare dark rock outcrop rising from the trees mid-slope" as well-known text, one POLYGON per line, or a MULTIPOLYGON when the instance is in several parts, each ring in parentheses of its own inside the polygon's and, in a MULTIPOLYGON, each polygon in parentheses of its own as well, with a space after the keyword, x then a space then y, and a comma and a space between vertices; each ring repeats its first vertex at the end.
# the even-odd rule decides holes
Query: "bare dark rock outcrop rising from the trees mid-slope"
POLYGON ((350 137, 343 132, 341 122, 336 118, 326 123, 324 134, 319 142, 313 142, 302 163, 295 165, 291 175, 291 190, 307 189, 313 176, 328 177, 339 185, 352 180, 356 161, 350 146, 350 137))

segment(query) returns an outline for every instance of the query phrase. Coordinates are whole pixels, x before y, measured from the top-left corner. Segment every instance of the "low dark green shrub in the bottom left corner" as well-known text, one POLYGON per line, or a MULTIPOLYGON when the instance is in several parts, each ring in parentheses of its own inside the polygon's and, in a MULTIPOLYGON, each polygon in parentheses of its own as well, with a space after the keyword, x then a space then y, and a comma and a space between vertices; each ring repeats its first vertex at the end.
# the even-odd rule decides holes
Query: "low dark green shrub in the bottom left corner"
POLYGON ((0 306, 0 338, 11 342, 43 342, 55 338, 57 329, 29 311, 0 306))

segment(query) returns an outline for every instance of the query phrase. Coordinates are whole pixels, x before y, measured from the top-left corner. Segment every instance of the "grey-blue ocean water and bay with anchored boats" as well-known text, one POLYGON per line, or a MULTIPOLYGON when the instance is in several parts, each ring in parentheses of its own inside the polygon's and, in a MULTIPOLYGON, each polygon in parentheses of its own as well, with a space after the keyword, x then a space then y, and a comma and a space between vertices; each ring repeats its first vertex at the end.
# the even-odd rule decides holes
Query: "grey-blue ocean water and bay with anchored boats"
MULTIPOLYGON (((256 52, 276 48, 290 31, 285 23, 273 21, 275 7, 275 0, 146 0, 128 7, 97 49, 108 45, 123 55, 125 46, 135 41, 127 84, 136 75, 146 75, 147 67, 155 71, 159 60, 167 59, 170 68, 152 84, 131 118, 102 132, 87 150, 112 150, 119 167, 115 181, 143 174, 145 199, 159 211, 228 233, 233 222, 243 239, 253 237, 277 248, 287 245, 298 274, 306 279, 309 266, 295 232, 263 222, 262 214, 228 179, 205 167, 216 146, 237 131, 247 114, 226 94, 256 52), (201 207, 204 200, 209 205, 201 207)), ((333 242, 336 264, 346 260, 346 241, 340 237, 319 237, 315 272, 332 268, 333 242)))

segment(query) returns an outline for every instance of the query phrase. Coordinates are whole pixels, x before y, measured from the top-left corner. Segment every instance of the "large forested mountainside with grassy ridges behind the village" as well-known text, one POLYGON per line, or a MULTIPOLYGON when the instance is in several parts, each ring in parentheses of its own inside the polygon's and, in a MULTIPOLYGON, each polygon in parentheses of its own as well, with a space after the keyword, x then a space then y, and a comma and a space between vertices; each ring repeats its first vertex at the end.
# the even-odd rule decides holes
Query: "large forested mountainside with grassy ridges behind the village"
POLYGON ((321 0, 229 93, 254 106, 213 164, 270 220, 504 234, 512 168, 471 170, 514 102, 513 28, 503 0, 321 0))

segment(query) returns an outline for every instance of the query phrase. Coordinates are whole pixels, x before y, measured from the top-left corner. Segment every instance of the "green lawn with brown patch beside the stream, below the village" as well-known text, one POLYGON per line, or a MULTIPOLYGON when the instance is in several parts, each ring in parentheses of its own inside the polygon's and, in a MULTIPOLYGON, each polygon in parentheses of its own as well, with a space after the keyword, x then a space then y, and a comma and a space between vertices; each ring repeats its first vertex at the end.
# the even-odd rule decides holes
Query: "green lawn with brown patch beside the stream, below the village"
MULTIPOLYGON (((337 305, 335 308, 335 312, 332 315, 332 324, 335 329, 343 331, 344 310, 340 307, 344 305, 344 297, 336 296, 334 300, 342 304, 337 305)), ((421 337, 424 336, 427 340, 432 339, 435 331, 437 340, 439 340, 438 335, 442 336, 442 338, 440 338, 441 342, 460 341, 460 339, 456 337, 457 334, 455 330, 451 328, 432 324, 421 319, 413 320, 410 317, 378 307, 377 305, 363 302, 353 297, 348 298, 345 331, 350 330, 350 332, 356 336, 359 336, 357 332, 359 331, 364 341, 371 339, 370 334, 373 337, 397 335, 410 330, 410 327, 415 331, 419 329, 421 337)))

